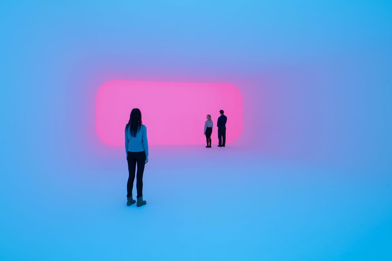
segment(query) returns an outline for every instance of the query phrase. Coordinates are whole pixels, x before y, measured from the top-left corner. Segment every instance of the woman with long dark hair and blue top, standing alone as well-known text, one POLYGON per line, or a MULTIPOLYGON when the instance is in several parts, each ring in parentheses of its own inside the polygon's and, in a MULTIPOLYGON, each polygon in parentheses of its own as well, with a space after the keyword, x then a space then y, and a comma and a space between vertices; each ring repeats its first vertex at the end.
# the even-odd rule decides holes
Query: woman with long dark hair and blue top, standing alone
POLYGON ((136 164, 138 172, 136 173, 136 190, 138 195, 136 199, 137 207, 146 204, 143 200, 143 172, 144 165, 148 162, 148 142, 147 128, 142 124, 142 113, 138 108, 134 108, 129 115, 129 121, 125 125, 125 153, 127 153, 128 162, 128 183, 127 183, 127 206, 136 202, 132 198, 133 181, 135 180, 136 164))

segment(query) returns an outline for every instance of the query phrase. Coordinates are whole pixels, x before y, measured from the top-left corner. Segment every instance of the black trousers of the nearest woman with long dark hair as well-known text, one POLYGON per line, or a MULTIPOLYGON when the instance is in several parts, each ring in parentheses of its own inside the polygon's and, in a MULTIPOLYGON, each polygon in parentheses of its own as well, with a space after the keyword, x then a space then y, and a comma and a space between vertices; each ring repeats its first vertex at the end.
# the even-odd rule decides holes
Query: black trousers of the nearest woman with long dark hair
POLYGON ((127 183, 127 197, 132 195, 133 181, 135 180, 136 163, 138 164, 138 172, 136 173, 136 190, 138 195, 136 198, 143 196, 143 172, 146 162, 146 153, 144 151, 131 152, 128 151, 128 183, 127 183))

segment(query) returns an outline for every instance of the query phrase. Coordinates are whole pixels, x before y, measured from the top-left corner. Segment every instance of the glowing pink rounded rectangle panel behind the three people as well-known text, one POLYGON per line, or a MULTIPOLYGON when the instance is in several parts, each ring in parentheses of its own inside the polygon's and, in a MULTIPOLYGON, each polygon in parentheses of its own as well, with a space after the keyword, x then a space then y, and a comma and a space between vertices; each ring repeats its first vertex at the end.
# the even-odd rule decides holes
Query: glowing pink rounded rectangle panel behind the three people
POLYGON ((227 116, 226 142, 242 130, 242 96, 233 85, 109 81, 98 90, 96 132, 106 144, 124 146, 124 128, 132 108, 142 111, 151 145, 204 144, 206 115, 212 116, 212 143, 218 143, 219 110, 227 116))

